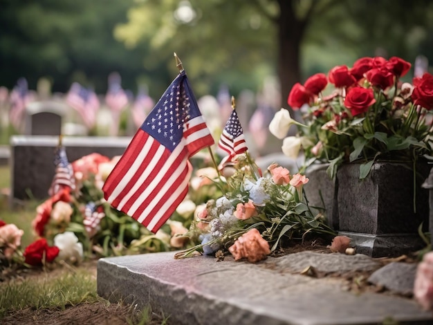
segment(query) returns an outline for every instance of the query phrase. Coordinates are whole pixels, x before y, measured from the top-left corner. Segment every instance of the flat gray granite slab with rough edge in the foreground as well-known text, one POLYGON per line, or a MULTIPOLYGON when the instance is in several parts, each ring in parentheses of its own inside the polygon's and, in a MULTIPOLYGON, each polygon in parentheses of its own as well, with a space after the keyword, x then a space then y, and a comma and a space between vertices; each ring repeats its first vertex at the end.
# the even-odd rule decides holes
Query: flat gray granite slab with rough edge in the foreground
MULTIPOLYGON (((348 258, 343 263, 363 263, 348 258)), ((335 277, 286 272, 288 260, 217 262, 211 257, 174 259, 173 252, 105 258, 98 261, 98 294, 110 301, 151 304, 169 315, 172 324, 433 323, 432 313, 413 299, 355 294, 335 277)))

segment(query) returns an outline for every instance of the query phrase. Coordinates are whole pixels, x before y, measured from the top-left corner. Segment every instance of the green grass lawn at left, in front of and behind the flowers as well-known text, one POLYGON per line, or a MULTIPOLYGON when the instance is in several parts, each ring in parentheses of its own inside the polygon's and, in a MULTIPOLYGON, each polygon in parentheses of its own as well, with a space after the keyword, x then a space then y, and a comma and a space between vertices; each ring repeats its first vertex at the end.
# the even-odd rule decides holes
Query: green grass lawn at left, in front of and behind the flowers
MULTIPOLYGON (((21 247, 34 241, 31 221, 39 201, 8 204, 10 171, 0 166, 0 220, 24 230, 21 247)), ((0 265, 0 324, 165 324, 168 317, 121 301, 111 304, 96 291, 97 260, 79 266, 3 268, 0 265)))

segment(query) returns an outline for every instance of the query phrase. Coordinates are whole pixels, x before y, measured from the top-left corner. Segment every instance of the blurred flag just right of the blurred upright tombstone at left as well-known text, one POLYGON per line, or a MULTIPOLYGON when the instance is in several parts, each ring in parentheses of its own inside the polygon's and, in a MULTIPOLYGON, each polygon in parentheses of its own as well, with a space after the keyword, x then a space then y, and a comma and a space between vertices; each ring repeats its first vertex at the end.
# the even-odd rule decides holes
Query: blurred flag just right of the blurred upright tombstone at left
POLYGON ((77 110, 88 129, 95 126, 100 101, 93 90, 74 82, 66 95, 66 102, 77 110))

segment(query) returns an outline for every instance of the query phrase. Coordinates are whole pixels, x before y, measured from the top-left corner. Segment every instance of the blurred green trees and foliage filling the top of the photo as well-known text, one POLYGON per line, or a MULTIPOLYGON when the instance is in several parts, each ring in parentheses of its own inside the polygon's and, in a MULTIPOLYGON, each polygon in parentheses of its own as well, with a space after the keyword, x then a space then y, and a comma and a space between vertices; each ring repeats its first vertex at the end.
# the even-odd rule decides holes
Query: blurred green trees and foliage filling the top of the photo
POLYGON ((46 77, 107 90, 122 75, 159 98, 183 61, 197 97, 259 91, 276 76, 282 105, 295 82, 362 56, 433 61, 433 1, 0 0, 0 86, 46 77))

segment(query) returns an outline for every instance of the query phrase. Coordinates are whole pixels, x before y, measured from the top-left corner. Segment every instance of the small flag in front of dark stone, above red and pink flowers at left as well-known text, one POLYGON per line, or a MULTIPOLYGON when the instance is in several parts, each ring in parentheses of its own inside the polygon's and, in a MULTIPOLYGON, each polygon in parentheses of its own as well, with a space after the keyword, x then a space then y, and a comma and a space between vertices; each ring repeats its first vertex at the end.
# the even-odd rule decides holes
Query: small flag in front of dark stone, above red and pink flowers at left
POLYGON ((75 189, 75 177, 73 168, 66 156, 66 150, 62 145, 55 149, 54 154, 55 174, 51 186, 48 189, 48 194, 53 196, 60 192, 64 187, 69 187, 71 190, 75 189))

